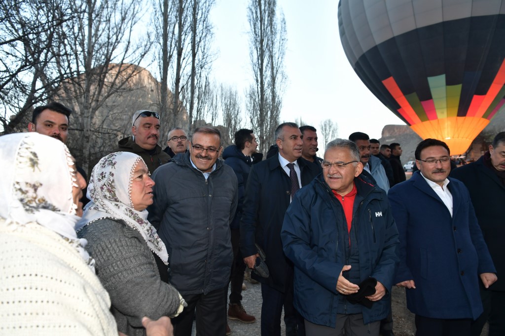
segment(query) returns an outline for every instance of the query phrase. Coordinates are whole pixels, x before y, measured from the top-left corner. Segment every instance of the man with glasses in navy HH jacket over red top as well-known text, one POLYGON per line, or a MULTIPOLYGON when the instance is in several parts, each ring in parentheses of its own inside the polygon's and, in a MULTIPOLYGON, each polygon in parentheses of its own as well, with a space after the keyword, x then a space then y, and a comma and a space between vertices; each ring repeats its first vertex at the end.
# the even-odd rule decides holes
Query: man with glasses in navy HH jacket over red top
POLYGON ((322 168, 296 194, 281 230, 295 308, 308 336, 378 336, 398 262, 387 196, 363 179, 354 142, 328 143, 322 168))

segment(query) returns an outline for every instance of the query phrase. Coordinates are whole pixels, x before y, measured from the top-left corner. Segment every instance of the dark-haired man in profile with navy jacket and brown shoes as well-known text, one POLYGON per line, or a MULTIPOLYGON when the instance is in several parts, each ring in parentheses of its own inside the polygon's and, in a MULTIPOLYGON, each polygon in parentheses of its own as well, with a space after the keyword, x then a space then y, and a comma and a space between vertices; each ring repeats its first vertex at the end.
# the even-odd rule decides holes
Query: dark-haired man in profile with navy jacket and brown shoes
MULTIPOLYGON (((233 264, 230 277, 230 306, 228 318, 239 320, 244 323, 256 321, 256 317, 249 315, 242 307, 242 282, 244 281, 245 263, 239 252, 240 244, 240 219, 245 196, 245 185, 252 166, 251 155, 256 152, 258 142, 252 129, 239 129, 235 132, 235 145, 225 148, 223 151, 224 163, 230 166, 238 182, 238 205, 235 218, 231 222, 231 246, 233 247, 233 264)), ((231 331, 231 330, 230 330, 231 331)))

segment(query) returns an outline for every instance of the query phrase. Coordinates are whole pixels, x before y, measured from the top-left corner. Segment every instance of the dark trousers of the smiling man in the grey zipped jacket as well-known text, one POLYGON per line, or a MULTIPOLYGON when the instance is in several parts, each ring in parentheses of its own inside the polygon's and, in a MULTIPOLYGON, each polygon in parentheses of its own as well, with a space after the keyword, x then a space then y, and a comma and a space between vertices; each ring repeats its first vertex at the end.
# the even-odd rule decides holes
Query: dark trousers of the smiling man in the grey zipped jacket
POLYGON ((196 335, 214 336, 226 333, 226 294, 228 288, 208 294, 184 295, 188 306, 172 319, 174 336, 191 336, 196 309, 196 335))

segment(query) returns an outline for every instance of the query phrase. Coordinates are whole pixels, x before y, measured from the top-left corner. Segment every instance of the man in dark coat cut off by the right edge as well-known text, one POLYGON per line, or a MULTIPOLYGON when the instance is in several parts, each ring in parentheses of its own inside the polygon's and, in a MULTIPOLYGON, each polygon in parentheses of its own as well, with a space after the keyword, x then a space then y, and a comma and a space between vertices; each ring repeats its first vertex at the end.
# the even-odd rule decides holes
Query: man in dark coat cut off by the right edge
POLYGON ((472 335, 480 335, 489 318, 489 336, 505 335, 505 132, 499 132, 489 145, 489 151, 476 162, 462 166, 450 173, 470 191, 475 215, 479 220, 499 279, 488 289, 481 283, 484 313, 472 323, 472 335))

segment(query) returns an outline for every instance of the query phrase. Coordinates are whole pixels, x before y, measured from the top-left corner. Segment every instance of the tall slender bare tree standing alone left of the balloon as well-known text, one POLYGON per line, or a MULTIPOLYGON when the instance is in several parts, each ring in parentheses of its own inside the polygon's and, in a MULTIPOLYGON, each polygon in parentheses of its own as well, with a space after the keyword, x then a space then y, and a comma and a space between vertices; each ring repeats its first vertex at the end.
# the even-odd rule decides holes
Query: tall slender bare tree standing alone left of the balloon
POLYGON ((275 0, 251 0, 247 8, 249 21, 249 57, 254 82, 246 93, 246 109, 251 126, 258 130, 260 151, 266 152, 279 124, 283 71, 286 50, 284 17, 276 16, 275 0))

